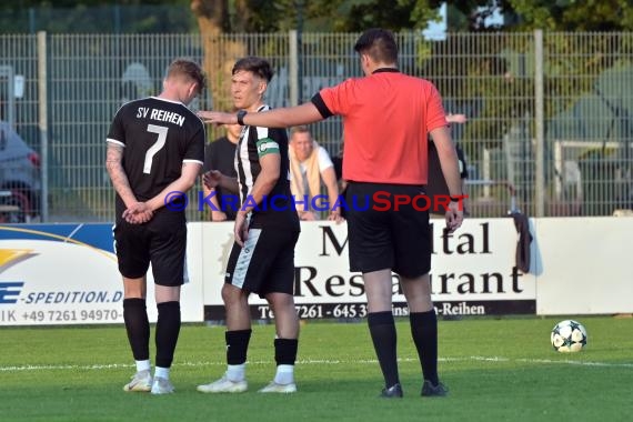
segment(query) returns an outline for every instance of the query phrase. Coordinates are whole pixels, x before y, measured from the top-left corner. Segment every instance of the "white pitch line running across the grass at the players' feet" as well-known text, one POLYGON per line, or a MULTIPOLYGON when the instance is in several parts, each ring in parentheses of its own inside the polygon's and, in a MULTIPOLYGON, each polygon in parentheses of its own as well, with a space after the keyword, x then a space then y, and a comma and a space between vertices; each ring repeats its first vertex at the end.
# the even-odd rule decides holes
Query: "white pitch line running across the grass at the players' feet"
MULTIPOLYGON (((502 363, 536 363, 536 364, 567 364, 580 366, 601 366, 601 368, 625 368, 633 369, 633 363, 610 363, 610 362, 590 362, 590 361, 571 361, 571 360, 552 360, 552 359, 511 359, 503 356, 461 356, 461 358, 440 358, 440 362, 502 362, 502 363)), ((404 358, 400 362, 418 362, 418 359, 404 358)), ((249 361, 249 364, 273 364, 272 361, 249 361)), ((300 360, 297 364, 323 364, 323 365, 338 365, 338 364, 375 364, 375 359, 360 359, 360 360, 329 360, 329 359, 304 359, 300 360)), ((224 365, 225 362, 178 362, 174 366, 213 366, 224 365)), ((133 368, 133 364, 127 363, 108 363, 108 364, 93 364, 93 365, 20 365, 20 366, 0 366, 0 372, 21 372, 21 371, 89 371, 89 370, 103 370, 103 369, 121 369, 133 368)))

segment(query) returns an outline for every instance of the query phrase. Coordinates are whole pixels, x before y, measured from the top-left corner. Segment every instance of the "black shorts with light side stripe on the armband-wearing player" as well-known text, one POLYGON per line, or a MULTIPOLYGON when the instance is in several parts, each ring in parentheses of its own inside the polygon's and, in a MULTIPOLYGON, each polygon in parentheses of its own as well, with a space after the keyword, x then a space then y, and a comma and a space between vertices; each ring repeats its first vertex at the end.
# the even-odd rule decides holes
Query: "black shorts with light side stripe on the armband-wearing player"
POLYGON ((263 298, 294 292, 294 245, 298 230, 275 227, 249 229, 244 248, 234 243, 224 282, 263 298))

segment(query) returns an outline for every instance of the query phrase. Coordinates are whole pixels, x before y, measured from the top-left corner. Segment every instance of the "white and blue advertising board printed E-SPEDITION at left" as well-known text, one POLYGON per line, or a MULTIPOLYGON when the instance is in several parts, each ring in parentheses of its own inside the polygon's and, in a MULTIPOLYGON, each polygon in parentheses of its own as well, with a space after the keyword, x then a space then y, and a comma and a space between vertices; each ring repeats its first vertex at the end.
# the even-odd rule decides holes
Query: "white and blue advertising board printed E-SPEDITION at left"
MULTIPOLYGON (((197 239, 191 233, 189 243, 197 239)), ((202 321, 201 259, 194 251, 188 267, 182 320, 202 321)), ((122 290, 111 224, 0 225, 0 325, 121 323, 122 290)), ((148 314, 155 322, 151 269, 148 314)))

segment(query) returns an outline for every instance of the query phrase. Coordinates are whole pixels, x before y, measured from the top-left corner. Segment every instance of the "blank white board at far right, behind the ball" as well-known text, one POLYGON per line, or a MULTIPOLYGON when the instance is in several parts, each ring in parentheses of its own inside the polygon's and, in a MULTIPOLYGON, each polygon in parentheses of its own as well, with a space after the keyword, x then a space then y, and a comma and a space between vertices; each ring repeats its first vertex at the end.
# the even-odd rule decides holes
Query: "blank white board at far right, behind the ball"
POLYGON ((537 313, 633 312, 633 218, 535 219, 537 313))

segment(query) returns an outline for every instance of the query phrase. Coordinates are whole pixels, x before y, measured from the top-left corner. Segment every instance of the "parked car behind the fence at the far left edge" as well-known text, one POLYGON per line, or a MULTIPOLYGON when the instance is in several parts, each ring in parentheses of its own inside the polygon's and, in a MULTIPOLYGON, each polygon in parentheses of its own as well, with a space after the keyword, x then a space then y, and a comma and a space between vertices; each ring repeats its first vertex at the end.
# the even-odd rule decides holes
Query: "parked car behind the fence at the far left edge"
POLYGON ((0 222, 30 221, 40 210, 40 155, 0 121, 0 222), (8 193, 10 192, 10 194, 8 193), (9 212, 18 208, 19 211, 9 212))

